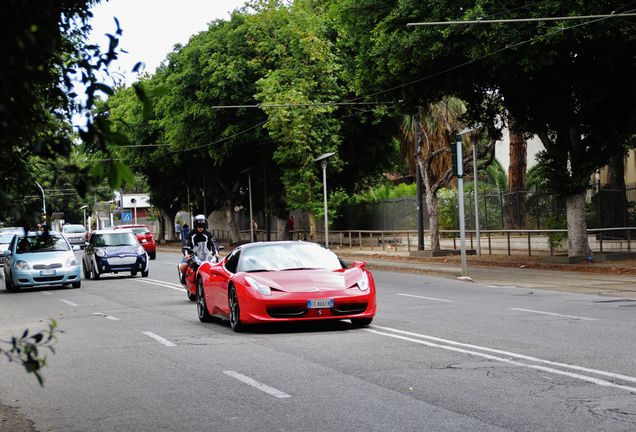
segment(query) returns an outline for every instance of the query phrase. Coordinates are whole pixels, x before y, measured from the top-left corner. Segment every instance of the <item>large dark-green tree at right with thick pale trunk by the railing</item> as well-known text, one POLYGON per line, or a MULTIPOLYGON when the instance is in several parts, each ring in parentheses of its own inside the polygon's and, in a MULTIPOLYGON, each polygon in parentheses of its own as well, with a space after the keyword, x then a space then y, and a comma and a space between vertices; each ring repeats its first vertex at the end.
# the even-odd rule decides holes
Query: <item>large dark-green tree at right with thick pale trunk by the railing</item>
POLYGON ((548 180, 567 200, 568 254, 589 252, 584 218, 590 175, 629 146, 636 129, 636 21, 615 15, 550 21, 407 28, 408 22, 541 18, 628 10, 628 1, 531 3, 342 0, 355 40, 357 80, 416 105, 454 94, 470 123, 496 131, 501 107, 540 137, 548 180), (364 49, 363 49, 364 48, 364 49), (406 83, 406 84, 405 84, 406 83))

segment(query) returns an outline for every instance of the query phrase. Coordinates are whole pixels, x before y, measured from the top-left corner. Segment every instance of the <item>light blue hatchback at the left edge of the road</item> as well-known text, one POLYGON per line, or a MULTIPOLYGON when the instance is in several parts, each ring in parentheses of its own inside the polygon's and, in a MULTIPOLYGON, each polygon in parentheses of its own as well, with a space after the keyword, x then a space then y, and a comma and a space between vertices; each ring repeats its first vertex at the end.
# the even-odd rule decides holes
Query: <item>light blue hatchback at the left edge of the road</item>
POLYGON ((81 286, 80 265, 68 240, 57 231, 14 234, 4 254, 7 290, 41 285, 81 286))

